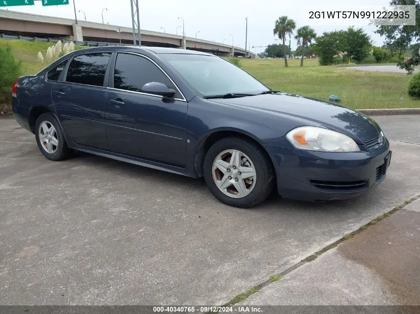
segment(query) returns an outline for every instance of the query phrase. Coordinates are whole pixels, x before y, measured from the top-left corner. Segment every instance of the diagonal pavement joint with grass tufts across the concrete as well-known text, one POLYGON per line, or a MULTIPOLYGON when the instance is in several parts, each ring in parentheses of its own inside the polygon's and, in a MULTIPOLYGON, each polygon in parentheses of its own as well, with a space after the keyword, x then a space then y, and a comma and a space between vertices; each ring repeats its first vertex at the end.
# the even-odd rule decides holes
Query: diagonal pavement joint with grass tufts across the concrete
POLYGON ((268 286, 269 284, 272 284, 278 280, 281 280, 282 277, 284 277, 285 275, 291 273, 292 271, 298 269, 299 267, 305 265, 306 263, 309 263, 315 259, 317 259, 320 255, 322 255, 323 253, 325 253, 326 251, 329 251, 331 249, 336 248, 339 244, 343 243, 344 241, 347 241, 351 238, 353 238, 356 234, 362 232, 363 230, 366 230, 367 228, 369 228, 369 226, 371 225, 375 225, 378 223, 378 221, 383 220, 389 216, 391 216, 392 214, 394 214, 395 212, 403 209, 404 207, 406 207, 408 204, 414 202, 415 200, 420 198, 420 194, 410 198, 409 200, 406 200, 404 203, 395 206, 393 209, 391 209, 390 211, 372 219, 371 221, 369 221, 367 224, 362 225, 361 227, 359 227, 357 230, 350 232, 349 234, 346 234, 344 236, 342 236, 340 239, 338 239, 336 242, 333 242, 332 244, 324 247, 323 249, 316 251, 315 253, 305 257, 304 259, 302 259, 300 262, 290 266, 289 268, 283 270, 282 272, 278 273, 278 274, 273 274, 270 276, 269 279, 261 282, 260 284, 253 286, 252 288, 250 288, 247 291, 244 291, 240 294, 238 294, 237 296, 235 296, 234 298, 232 298, 231 301, 229 301, 228 303, 222 305, 222 307, 229 307, 229 306, 233 306, 239 302, 245 301, 246 299, 248 299, 250 296, 252 296, 253 294, 257 293, 258 291, 260 291, 262 288, 264 288, 265 286, 268 286))

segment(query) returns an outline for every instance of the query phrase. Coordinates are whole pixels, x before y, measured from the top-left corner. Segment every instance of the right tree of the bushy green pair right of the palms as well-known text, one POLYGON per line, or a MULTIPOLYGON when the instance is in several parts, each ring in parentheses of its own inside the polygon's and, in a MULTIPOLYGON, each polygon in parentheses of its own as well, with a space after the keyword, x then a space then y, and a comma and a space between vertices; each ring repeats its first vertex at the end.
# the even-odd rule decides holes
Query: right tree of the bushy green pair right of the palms
POLYGON ((344 48, 348 59, 353 59, 355 62, 362 62, 368 55, 371 47, 370 37, 363 31, 362 28, 354 29, 349 27, 343 33, 344 48))

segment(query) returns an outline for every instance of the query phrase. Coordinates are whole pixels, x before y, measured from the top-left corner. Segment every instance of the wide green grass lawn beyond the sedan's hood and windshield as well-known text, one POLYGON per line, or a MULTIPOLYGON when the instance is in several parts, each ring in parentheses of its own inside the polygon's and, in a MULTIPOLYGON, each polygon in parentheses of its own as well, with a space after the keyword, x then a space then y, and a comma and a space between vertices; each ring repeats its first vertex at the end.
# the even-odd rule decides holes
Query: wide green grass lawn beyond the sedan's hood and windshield
POLYGON ((243 59, 242 67, 272 89, 328 100, 352 109, 416 108, 420 100, 407 94, 411 75, 404 73, 349 71, 338 66, 320 66, 318 60, 243 59))

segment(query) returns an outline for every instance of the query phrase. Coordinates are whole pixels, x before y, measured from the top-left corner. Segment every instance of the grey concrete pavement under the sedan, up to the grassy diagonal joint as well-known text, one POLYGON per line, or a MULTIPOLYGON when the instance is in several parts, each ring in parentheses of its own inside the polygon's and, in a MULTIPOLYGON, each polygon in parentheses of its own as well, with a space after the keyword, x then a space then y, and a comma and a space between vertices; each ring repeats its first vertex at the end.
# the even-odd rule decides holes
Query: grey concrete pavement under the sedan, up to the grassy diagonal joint
POLYGON ((364 196, 273 194, 252 209, 218 202, 203 180, 87 154, 49 161, 0 118, 0 302, 224 304, 418 195, 419 117, 374 117, 393 156, 364 196))

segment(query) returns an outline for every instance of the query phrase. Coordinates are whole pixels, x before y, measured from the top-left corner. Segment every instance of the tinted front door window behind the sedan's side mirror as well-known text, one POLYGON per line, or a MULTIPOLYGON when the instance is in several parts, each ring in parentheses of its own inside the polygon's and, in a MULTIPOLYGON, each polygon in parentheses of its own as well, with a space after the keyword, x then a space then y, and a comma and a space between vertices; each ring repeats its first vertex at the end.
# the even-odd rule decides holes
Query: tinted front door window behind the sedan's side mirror
POLYGON ((140 92, 142 86, 150 82, 163 83, 168 88, 175 89, 161 69, 146 58, 118 54, 114 70, 114 88, 140 92))

